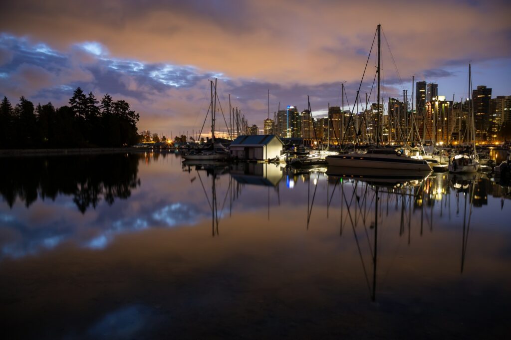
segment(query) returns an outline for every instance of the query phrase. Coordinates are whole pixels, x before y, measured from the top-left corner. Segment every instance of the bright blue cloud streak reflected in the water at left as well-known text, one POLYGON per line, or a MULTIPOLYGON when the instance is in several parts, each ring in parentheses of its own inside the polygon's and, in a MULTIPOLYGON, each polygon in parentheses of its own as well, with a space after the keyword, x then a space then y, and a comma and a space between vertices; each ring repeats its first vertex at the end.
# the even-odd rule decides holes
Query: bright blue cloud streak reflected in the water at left
POLYGON ((34 255, 67 241, 76 242, 84 248, 101 250, 120 234, 147 228, 194 225, 206 216, 205 210, 188 203, 159 202, 159 207, 158 204, 148 203, 132 213, 108 211, 108 214, 120 216, 112 222, 110 218, 101 215, 100 206, 81 217, 78 217, 79 212, 75 211, 74 204, 62 202, 59 206, 66 207, 60 209, 60 215, 56 213, 58 206, 42 203, 34 204, 31 207, 32 213, 25 217, 0 214, 0 221, 4 224, 4 228, 0 229, 0 257, 34 255), (81 218, 81 223, 63 229, 62 211, 67 219, 77 221, 81 218))

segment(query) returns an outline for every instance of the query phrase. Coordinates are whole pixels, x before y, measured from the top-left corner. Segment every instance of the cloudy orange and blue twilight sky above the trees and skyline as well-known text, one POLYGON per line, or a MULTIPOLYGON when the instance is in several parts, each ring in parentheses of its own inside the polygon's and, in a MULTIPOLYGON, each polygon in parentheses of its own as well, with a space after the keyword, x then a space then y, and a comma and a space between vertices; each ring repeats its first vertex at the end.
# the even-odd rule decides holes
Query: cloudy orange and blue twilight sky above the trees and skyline
MULTIPOLYGON (((140 130, 177 135, 199 130, 209 80, 228 120, 228 94, 260 128, 277 108, 353 105, 371 91, 377 25, 382 25, 382 96, 402 98, 415 81, 438 94, 511 95, 508 0, 335 1, 18 0, 0 13, 0 95, 12 103, 66 105, 80 86, 109 93, 140 113, 140 130)), ((375 90, 369 102, 376 101, 375 90)), ((223 120, 223 119, 221 119, 223 120)), ((206 124, 207 126, 207 124, 206 124)), ((205 128, 206 129, 206 128, 205 128)), ((217 130, 225 131, 225 124, 217 130)))

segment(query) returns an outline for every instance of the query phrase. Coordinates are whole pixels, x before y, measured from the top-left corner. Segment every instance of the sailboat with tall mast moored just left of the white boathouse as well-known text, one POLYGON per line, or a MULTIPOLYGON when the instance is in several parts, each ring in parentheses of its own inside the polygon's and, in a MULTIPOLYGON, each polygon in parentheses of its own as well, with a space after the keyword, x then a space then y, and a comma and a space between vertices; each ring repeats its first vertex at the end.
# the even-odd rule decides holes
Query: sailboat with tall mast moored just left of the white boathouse
MULTIPOLYGON (((211 143, 208 143, 203 148, 196 148, 191 150, 188 154, 184 154, 181 157, 189 161, 222 161, 230 157, 230 154, 224 148, 221 143, 215 144, 215 110, 217 101, 217 80, 215 79, 215 85, 213 81, 211 83, 211 143), (215 88, 215 92, 213 92, 215 88)), ((209 111, 209 110, 208 110, 209 111)), ((207 116, 207 113, 206 113, 207 116)))

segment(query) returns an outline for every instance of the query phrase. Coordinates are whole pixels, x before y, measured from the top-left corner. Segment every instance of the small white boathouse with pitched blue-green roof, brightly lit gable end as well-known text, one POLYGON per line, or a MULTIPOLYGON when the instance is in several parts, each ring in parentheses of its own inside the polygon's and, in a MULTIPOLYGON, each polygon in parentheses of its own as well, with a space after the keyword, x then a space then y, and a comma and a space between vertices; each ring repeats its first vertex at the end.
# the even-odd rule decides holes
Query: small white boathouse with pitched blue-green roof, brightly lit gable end
POLYGON ((275 135, 243 135, 230 144, 230 154, 238 159, 270 159, 281 155, 283 145, 275 135))

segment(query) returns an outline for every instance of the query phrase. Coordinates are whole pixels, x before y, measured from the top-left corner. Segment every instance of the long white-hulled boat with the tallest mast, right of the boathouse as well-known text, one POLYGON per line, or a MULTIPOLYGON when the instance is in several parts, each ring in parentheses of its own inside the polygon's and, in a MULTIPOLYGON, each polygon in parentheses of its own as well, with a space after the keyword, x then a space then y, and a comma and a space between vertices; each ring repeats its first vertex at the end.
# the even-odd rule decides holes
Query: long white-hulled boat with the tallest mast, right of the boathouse
MULTIPOLYGON (((377 133, 375 149, 367 150, 365 154, 349 153, 342 155, 327 156, 326 160, 329 166, 348 166, 359 168, 370 168, 381 173, 381 169, 400 169, 410 171, 431 171, 429 164, 423 159, 414 159, 400 151, 393 149, 379 148, 380 146, 380 50, 381 50, 381 25, 378 25, 378 113, 377 113, 377 133)), ((357 95, 358 96, 358 95, 357 95)), ((357 98, 358 100, 358 98, 357 98)))

